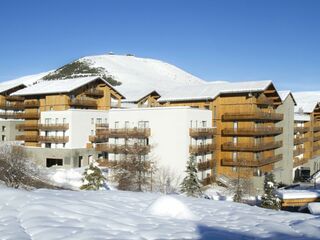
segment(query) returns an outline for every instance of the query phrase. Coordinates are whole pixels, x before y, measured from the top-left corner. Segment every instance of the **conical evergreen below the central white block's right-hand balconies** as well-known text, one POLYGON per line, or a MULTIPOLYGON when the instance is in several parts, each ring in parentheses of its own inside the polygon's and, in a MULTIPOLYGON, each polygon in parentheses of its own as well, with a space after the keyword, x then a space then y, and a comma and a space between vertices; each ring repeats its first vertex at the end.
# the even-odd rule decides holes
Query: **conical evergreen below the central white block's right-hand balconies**
POLYGON ((181 192, 186 193, 189 197, 199 197, 202 192, 200 189, 200 182, 198 179, 198 170, 195 156, 190 156, 187 162, 187 176, 181 183, 181 192))

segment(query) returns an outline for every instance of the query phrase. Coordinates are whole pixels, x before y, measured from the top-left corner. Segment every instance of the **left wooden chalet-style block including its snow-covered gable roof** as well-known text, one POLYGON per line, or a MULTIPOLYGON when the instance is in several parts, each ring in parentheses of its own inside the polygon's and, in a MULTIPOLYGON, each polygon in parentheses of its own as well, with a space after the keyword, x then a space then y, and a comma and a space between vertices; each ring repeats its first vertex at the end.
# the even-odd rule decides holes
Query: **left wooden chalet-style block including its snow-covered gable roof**
POLYGON ((120 107, 121 99, 124 98, 101 77, 42 81, 14 92, 12 96, 24 98, 24 122, 17 126, 23 131, 23 135, 17 137, 17 140, 24 141, 25 146, 29 147, 60 143, 58 139, 47 140, 40 137, 40 132, 45 130, 43 125, 39 125, 42 112, 68 109, 109 110, 111 107, 120 107))

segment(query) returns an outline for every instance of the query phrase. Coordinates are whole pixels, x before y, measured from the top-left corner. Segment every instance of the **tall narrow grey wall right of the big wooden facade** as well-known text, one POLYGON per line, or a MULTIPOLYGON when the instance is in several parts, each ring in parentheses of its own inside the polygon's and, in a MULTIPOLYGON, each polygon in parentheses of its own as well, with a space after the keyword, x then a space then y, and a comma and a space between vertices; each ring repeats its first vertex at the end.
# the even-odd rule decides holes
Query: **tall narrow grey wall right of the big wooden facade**
POLYGON ((280 105, 277 113, 283 113, 283 121, 276 124, 277 127, 283 128, 283 133, 276 136, 277 141, 283 141, 283 146, 276 150, 276 154, 282 154, 282 161, 275 163, 273 173, 277 182, 291 184, 293 181, 293 141, 294 141, 294 101, 291 95, 280 105))

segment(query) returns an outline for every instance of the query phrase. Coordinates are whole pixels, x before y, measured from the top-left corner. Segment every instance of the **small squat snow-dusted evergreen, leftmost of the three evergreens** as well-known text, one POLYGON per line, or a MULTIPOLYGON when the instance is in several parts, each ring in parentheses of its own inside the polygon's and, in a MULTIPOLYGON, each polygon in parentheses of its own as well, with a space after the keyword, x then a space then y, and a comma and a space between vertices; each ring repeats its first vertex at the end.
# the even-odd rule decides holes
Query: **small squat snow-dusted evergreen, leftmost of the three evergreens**
POLYGON ((98 163, 90 163, 83 173, 81 190, 99 190, 104 186, 106 178, 103 176, 98 163))

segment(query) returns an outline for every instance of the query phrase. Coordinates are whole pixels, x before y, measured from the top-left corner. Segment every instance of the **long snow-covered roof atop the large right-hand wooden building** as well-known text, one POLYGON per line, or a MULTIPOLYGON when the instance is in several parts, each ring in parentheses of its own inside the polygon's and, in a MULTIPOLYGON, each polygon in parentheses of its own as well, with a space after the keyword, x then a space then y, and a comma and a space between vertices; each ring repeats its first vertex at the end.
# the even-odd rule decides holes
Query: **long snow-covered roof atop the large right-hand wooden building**
POLYGON ((272 81, 211 82, 192 86, 177 87, 161 96, 160 102, 183 100, 210 100, 220 94, 241 92, 262 92, 272 81))

